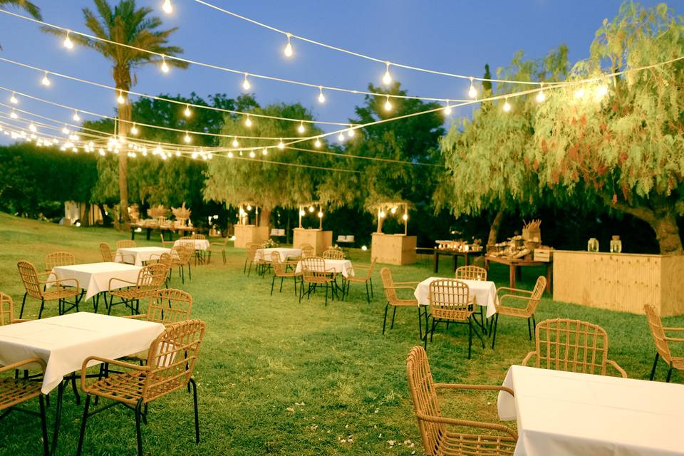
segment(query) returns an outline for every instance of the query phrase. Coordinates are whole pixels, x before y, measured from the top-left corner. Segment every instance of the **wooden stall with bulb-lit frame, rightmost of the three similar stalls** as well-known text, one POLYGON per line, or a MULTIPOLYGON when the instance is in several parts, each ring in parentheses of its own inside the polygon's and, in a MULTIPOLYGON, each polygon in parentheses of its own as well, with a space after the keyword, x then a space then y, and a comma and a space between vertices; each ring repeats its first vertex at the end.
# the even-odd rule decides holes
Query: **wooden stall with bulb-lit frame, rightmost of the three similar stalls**
POLYGON ((385 202, 375 206, 378 214, 378 231, 372 234, 371 258, 385 264, 415 263, 417 238, 408 236, 408 204, 405 202, 385 202), (383 233, 383 222, 388 214, 402 214, 403 234, 383 233))

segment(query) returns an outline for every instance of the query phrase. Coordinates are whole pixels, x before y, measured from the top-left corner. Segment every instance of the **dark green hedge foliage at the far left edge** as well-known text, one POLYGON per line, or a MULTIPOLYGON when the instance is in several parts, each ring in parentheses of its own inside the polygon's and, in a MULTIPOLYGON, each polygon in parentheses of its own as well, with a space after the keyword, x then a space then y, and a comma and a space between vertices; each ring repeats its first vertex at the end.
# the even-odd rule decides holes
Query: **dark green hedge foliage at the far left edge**
POLYGON ((0 147, 0 210, 24 217, 61 217, 63 202, 88 202, 95 158, 21 143, 0 147))

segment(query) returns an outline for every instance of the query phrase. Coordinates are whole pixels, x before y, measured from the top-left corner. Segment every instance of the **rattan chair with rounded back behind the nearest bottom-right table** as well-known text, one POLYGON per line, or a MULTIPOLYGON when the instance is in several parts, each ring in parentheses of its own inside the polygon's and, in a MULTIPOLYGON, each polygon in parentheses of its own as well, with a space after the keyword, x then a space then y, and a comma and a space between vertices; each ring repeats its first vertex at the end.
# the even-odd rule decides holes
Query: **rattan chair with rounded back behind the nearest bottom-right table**
POLYGON ((523 366, 534 358, 535 368, 606 375, 606 366, 610 365, 627 378, 623 368, 608 359, 608 333, 601 326, 556 318, 540 321, 534 336, 537 348, 527 353, 523 366))

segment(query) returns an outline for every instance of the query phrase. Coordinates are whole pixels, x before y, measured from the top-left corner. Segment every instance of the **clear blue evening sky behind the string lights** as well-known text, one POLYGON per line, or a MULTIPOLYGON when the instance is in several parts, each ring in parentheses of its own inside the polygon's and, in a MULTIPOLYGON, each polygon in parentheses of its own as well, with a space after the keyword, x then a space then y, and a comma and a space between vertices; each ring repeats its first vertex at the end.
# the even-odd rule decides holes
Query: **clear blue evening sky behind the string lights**
MULTIPOLYGON (((88 0, 33 0, 41 6, 43 19, 78 31, 83 26, 83 6, 88 0)), ((326 86, 365 90, 369 82, 380 83, 384 66, 301 41, 294 41, 293 58, 285 58, 284 36, 219 13, 192 0, 172 0, 175 11, 166 16, 162 0, 138 1, 162 16, 165 26, 178 26, 172 43, 185 49, 187 58, 326 86)), ((482 76, 485 63, 492 71, 506 66, 514 52, 544 56, 560 43, 569 46, 571 61, 585 58, 596 29, 604 18, 612 19, 618 0, 211 0, 244 16, 389 61, 453 73, 482 76)), ((657 1, 642 1, 652 5, 657 1)), ((12 11, 17 11, 12 9, 12 11)), ((681 11, 679 11, 681 12, 681 11)), ((47 68, 51 71, 113 85, 110 63, 95 51, 67 51, 61 39, 38 30, 38 26, 0 14, 0 56, 47 68)), ((468 84, 454 78, 430 76, 394 68, 393 76, 412 95, 465 98, 468 84)), ((143 67, 133 90, 143 93, 201 96, 241 93, 242 78, 230 73, 193 66, 164 75, 158 68, 143 67)), ((97 113, 113 114, 115 96, 94 88, 53 77, 48 88, 42 74, 0 62, 0 86, 20 90, 58 103, 97 113)), ((363 95, 326 93, 316 101, 317 91, 284 83, 252 79, 252 91, 261 105, 301 102, 319 120, 347 121, 363 95)), ((0 91, 0 103, 9 103, 0 91)), ((69 121, 72 113, 43 103, 21 100, 21 108, 69 121)), ((0 106, 0 111, 7 109, 0 106)), ((455 111, 452 116, 467 115, 455 111)), ((8 138, 0 136, 0 143, 8 138)))

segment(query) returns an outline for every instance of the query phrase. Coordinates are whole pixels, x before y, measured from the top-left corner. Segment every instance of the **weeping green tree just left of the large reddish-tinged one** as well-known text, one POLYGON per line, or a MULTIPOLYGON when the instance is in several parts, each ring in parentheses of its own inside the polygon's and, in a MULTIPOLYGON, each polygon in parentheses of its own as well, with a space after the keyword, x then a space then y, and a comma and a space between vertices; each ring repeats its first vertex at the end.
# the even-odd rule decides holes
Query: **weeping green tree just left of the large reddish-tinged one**
MULTIPOLYGON (((501 84, 495 93, 488 86, 483 96, 536 87, 525 82, 558 81, 567 72, 567 53, 566 46, 559 46, 545 58, 534 61, 524 59, 519 51, 508 68, 497 70, 498 78, 519 83, 501 84)), ((544 197, 537 177, 539 162, 527 158, 529 149, 534 147, 537 95, 484 102, 475 110, 472 120, 460 120, 442 138, 447 172, 435 191, 435 202, 450 209, 456 217, 493 210, 488 244, 496 242, 505 213, 531 212, 544 197), (508 112, 503 109, 506 102, 511 107, 508 112)))

